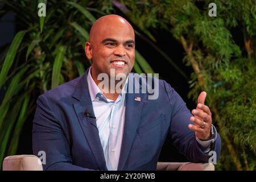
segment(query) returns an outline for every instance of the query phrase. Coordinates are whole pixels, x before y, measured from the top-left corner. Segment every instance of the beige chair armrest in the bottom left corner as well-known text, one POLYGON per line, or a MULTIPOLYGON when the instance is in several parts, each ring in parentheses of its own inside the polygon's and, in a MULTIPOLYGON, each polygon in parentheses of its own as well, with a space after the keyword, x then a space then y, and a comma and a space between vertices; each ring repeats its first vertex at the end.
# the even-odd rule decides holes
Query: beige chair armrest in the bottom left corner
POLYGON ((35 155, 12 155, 3 160, 3 171, 43 171, 43 167, 35 155))

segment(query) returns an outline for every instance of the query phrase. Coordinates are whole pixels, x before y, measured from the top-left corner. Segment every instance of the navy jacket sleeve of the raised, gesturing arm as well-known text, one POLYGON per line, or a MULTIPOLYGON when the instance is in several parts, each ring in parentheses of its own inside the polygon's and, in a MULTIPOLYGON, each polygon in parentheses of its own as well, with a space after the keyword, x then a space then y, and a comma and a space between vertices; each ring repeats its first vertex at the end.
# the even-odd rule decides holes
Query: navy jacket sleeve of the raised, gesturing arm
MULTIPOLYGON (((210 156, 200 149, 195 133, 188 128, 188 125, 191 123, 191 112, 179 94, 165 81, 164 86, 171 109, 170 136, 172 143, 189 161, 195 163, 208 162, 210 156)), ((220 158, 221 139, 218 133, 216 135, 216 140, 212 143, 211 151, 216 152, 218 160, 220 158)))

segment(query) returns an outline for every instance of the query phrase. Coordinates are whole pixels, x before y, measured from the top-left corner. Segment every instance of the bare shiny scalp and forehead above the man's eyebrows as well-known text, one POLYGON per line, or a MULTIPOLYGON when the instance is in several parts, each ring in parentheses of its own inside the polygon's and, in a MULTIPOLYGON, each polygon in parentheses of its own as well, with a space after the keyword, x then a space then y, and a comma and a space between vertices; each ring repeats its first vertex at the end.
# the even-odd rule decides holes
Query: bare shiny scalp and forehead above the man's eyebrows
POLYGON ((113 29, 118 31, 126 29, 134 38, 134 30, 131 24, 121 16, 112 14, 102 16, 93 23, 92 28, 90 28, 89 42, 93 43, 98 35, 105 34, 107 31, 113 29))

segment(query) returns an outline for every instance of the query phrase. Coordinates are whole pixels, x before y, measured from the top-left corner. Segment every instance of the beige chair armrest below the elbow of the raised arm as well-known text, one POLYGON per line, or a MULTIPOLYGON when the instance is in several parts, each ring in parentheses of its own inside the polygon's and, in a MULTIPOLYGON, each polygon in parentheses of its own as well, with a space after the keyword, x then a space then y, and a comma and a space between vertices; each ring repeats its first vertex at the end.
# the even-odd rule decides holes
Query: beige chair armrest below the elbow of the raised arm
POLYGON ((212 163, 172 163, 158 162, 158 171, 214 171, 212 163))

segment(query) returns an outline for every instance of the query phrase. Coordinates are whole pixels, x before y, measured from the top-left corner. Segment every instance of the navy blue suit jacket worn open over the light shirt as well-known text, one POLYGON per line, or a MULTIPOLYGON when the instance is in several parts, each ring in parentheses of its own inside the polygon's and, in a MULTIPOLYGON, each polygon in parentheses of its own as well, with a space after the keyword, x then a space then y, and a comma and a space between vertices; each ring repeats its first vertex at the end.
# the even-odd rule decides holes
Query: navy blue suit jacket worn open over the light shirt
MULTIPOLYGON (((84 115, 85 109, 94 115, 87 73, 38 98, 33 152, 46 152, 44 170, 107 170, 96 119, 84 115)), ((195 133, 188 129, 190 117, 184 101, 166 81, 159 80, 157 100, 148 100, 148 93, 127 93, 118 170, 155 170, 167 136, 191 162, 208 162, 208 154, 200 150, 195 133), (136 97, 141 101, 135 101, 136 97)), ((212 150, 219 158, 218 134, 212 150)))

